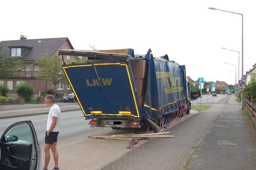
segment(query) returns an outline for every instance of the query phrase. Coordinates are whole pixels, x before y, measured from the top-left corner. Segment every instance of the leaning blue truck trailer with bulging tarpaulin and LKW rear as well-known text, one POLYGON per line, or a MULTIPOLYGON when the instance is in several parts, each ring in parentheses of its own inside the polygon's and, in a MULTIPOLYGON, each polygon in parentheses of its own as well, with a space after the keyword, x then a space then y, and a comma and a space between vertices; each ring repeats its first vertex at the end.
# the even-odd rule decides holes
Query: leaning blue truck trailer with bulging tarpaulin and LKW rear
POLYGON ((59 55, 87 57, 87 63, 63 63, 63 71, 90 127, 159 128, 189 114, 185 66, 167 55, 153 57, 151 49, 145 55, 61 49, 59 55))

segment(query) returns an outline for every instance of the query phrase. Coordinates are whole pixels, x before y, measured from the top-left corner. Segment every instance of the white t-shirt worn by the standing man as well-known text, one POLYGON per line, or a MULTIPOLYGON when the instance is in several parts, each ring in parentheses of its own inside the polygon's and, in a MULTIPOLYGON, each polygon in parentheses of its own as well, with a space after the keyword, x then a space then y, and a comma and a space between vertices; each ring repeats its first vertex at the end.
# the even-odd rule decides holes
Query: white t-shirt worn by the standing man
POLYGON ((48 114, 48 120, 47 120, 47 130, 50 129, 50 126, 52 125, 52 116, 57 117, 57 123, 54 129, 52 131, 60 131, 61 127, 61 109, 58 105, 54 104, 52 105, 49 114, 48 114))

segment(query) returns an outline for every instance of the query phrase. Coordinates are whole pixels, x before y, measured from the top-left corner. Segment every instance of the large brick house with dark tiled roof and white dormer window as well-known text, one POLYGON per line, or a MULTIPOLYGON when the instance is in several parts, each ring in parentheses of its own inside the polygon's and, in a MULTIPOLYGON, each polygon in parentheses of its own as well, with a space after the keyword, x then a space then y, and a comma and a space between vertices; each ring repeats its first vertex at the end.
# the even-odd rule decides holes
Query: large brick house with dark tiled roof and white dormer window
MULTIPOLYGON (((49 85, 48 82, 39 82, 36 75, 39 71, 37 65, 31 65, 36 60, 39 60, 44 55, 43 53, 48 52, 50 56, 53 54, 59 55, 59 49, 74 49, 67 37, 63 38, 48 38, 48 39, 26 39, 25 36, 21 36, 20 40, 11 41, 1 41, 0 46, 3 46, 2 52, 9 56, 15 56, 17 59, 21 60, 25 67, 18 68, 14 72, 13 77, 8 77, 7 79, 0 79, 0 83, 7 83, 10 88, 9 96, 17 97, 15 95, 14 87, 19 84, 20 81, 27 81, 35 86, 36 94, 38 96, 39 92, 47 91, 53 88, 53 85, 49 85)), ((71 63, 75 60, 74 56, 64 56, 65 63, 71 63)), ((63 84, 60 82, 57 87, 58 90, 63 91, 67 94, 72 92, 69 84, 63 84)), ((37 97, 36 96, 36 97, 37 97)))

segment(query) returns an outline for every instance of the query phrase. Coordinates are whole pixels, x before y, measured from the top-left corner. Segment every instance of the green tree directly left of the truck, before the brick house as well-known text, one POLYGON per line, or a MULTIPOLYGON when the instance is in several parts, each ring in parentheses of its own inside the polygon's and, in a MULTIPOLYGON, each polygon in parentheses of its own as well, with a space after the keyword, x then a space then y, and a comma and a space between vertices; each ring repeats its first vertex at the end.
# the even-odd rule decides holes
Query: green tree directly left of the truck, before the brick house
MULTIPOLYGON (((53 84, 54 89, 56 89, 56 85, 60 82, 67 84, 67 78, 63 73, 63 69, 61 66, 61 57, 53 54, 50 56, 48 50, 46 53, 43 53, 43 58, 34 62, 33 65, 39 66, 39 71, 37 75, 37 79, 39 81, 46 81, 50 85, 53 84)), ((55 94, 54 94, 55 97, 55 94)))

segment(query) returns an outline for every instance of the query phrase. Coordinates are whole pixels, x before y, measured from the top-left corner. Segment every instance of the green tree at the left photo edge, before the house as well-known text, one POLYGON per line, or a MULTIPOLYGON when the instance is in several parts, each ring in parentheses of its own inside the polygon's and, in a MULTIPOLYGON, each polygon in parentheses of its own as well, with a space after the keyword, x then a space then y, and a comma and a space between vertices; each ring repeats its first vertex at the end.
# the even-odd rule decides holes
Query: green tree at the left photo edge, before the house
POLYGON ((2 46, 0 46, 0 79, 6 79, 13 76, 13 71, 21 68, 24 63, 21 60, 16 60, 17 57, 9 56, 8 53, 1 53, 2 46))

